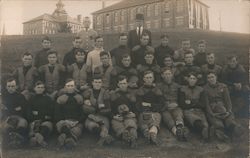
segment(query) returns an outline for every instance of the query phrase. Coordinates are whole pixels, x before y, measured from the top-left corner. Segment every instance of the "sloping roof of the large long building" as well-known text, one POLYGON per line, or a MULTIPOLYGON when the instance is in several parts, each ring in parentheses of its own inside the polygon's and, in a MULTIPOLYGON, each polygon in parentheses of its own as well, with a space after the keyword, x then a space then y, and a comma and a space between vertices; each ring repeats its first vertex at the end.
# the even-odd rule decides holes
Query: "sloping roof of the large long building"
MULTIPOLYGON (((106 8, 95 11, 92 14, 99 14, 99 13, 104 13, 104 12, 108 12, 108 11, 119 10, 119 9, 123 9, 123 8, 129 8, 129 7, 134 7, 134 6, 149 4, 149 3, 155 3, 155 2, 160 2, 160 1, 163 1, 163 0, 122 0, 121 2, 115 3, 111 6, 108 6, 106 8)), ((205 5, 206 7, 209 7, 208 5, 201 2, 200 0, 196 0, 196 1, 205 5)))

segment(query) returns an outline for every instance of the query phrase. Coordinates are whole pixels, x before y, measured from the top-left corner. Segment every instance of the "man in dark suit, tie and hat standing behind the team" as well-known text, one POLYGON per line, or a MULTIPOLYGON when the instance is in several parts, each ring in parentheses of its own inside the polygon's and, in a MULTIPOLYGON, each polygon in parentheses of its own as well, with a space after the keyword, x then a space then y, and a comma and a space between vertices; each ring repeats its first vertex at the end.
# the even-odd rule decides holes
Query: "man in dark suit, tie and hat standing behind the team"
POLYGON ((134 30, 130 30, 128 33, 128 47, 133 51, 138 49, 141 36, 144 33, 147 33, 149 35, 149 45, 151 45, 151 32, 143 28, 143 14, 136 14, 135 22, 136 28, 134 30))

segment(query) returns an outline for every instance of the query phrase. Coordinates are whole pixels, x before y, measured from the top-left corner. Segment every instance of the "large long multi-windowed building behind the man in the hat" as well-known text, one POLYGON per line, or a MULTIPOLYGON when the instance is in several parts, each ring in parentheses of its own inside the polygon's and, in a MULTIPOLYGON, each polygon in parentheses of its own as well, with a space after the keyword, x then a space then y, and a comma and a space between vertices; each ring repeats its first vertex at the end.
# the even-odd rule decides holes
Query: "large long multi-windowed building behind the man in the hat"
POLYGON ((209 29, 208 6, 200 0, 123 0, 93 14, 99 33, 127 32, 135 26, 135 15, 144 14, 151 31, 168 28, 209 29))

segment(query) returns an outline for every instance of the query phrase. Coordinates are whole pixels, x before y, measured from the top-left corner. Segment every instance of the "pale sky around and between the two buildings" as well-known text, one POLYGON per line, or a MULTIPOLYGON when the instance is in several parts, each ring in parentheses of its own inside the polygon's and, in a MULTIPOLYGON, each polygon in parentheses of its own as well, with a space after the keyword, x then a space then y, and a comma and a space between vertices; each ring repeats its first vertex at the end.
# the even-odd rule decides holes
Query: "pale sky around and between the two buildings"
MULTIPOLYGON (((250 1, 249 0, 202 0, 210 6, 209 21, 211 30, 250 33, 250 1)), ((22 23, 44 13, 53 13, 57 0, 0 0, 0 34, 3 25, 8 35, 22 34, 22 23)), ((69 16, 78 14, 91 16, 91 13, 102 8, 99 1, 63 0, 69 16)), ((107 1, 106 5, 113 4, 107 1)))

